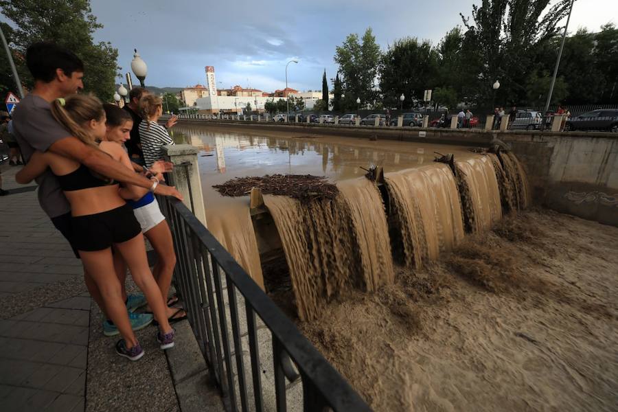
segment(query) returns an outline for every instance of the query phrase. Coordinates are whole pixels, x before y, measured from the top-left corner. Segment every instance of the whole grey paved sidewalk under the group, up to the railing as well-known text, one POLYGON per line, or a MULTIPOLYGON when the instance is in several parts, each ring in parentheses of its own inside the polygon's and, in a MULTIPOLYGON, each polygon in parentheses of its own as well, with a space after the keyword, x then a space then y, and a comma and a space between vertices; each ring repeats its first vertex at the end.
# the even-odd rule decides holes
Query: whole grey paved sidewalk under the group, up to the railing
MULTIPOLYGON (((34 187, 0 165, 0 405, 2 411, 222 411, 187 321, 165 353, 156 329, 137 332, 146 356, 115 354, 81 261, 41 210, 34 187), (172 352, 173 351, 173 352, 172 352)), ((129 278, 130 279, 130 278, 129 278)), ((135 290, 133 282, 127 287, 135 290)))

